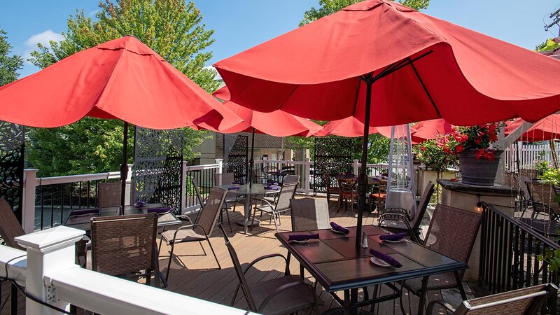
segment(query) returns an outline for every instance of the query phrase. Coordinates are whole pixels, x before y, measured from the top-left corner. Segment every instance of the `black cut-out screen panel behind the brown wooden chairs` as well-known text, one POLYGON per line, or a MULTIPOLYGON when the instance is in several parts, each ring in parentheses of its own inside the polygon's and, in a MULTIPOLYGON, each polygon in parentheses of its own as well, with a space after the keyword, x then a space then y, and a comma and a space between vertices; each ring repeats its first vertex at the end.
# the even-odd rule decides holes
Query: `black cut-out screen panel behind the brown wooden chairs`
POLYGON ((314 167, 316 175, 313 192, 326 193, 325 173, 352 172, 352 139, 315 138, 314 167))

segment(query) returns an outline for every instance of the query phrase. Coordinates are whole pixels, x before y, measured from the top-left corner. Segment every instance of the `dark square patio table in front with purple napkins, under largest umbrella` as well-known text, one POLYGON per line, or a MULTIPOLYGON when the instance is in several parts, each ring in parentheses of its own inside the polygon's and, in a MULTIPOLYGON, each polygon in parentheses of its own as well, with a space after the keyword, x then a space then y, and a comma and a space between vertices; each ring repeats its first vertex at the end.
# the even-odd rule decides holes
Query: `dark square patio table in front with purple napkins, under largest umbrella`
MULTIPOLYGON (((374 225, 363 226, 363 231, 367 232, 369 248, 357 248, 356 227, 349 230, 348 235, 337 234, 331 230, 276 233, 276 238, 300 262, 301 272, 303 268, 307 269, 316 281, 344 306, 344 314, 356 314, 359 307, 399 297, 400 290, 392 284, 395 281, 423 278, 425 291, 429 276, 445 272, 457 273, 468 268, 464 262, 453 260, 412 241, 381 241, 379 235, 388 232, 374 225), (306 233, 318 233, 319 239, 311 239, 303 244, 288 241, 291 234, 306 233), (402 267, 395 269, 374 265, 370 262, 370 248, 391 255, 402 263, 402 267), (388 285, 395 293, 371 299, 365 296, 363 301, 358 302, 358 288, 379 284, 388 285), (344 300, 335 294, 341 290, 344 291, 344 300)), ((423 294, 420 299, 418 314, 423 311, 425 297, 426 294, 423 294)))

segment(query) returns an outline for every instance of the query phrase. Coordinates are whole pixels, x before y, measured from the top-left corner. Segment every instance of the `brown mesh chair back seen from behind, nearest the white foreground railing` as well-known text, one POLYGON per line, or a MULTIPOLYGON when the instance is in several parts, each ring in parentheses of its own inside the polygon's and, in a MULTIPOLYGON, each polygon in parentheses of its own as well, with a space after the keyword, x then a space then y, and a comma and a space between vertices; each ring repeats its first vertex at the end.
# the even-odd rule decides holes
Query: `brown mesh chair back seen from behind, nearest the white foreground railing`
POLYGON ((92 218, 92 269, 113 276, 154 270, 157 214, 92 218))

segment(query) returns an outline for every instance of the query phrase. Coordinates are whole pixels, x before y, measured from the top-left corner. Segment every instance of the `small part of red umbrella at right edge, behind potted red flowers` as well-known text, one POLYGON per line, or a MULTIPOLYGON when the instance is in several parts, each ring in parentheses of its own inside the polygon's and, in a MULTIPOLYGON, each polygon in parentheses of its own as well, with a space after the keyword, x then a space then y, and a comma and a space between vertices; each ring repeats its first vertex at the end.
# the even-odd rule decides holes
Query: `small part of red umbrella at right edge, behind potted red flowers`
MULTIPOLYGON (((513 121, 506 122, 504 128, 504 133, 511 134, 517 129, 523 120, 516 119, 513 121)), ((560 114, 552 114, 545 118, 542 118, 537 123, 533 125, 529 130, 527 130, 523 135, 521 135, 521 140, 523 141, 546 141, 552 139, 560 139, 560 114)))

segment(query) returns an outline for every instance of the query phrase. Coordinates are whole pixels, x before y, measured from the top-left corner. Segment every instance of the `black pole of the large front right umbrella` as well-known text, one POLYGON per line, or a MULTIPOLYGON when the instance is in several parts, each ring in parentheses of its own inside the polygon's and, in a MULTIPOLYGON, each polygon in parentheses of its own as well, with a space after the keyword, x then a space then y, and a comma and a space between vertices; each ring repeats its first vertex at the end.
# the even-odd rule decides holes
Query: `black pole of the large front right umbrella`
POLYGON ((372 73, 361 77, 366 84, 365 94, 365 118, 363 120, 363 141, 362 141, 362 165, 358 176, 358 223, 356 224, 356 247, 361 246, 362 217, 365 209, 365 198, 367 195, 367 144, 370 134, 370 108, 372 104, 372 85, 374 78, 372 73))

